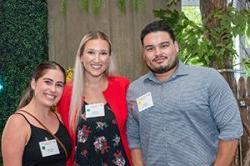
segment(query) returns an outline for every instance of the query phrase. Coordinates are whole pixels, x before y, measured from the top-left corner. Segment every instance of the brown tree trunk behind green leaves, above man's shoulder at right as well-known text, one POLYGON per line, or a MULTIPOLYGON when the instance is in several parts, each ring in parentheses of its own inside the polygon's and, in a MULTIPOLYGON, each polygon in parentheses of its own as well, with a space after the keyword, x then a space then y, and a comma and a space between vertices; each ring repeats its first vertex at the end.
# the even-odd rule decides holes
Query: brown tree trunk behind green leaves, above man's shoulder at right
MULTIPOLYGON (((207 32, 205 33, 206 37, 211 41, 213 45, 218 45, 220 43, 231 44, 233 46, 232 36, 230 35, 230 29, 223 29, 221 32, 218 33, 219 39, 214 38, 209 30, 215 29, 220 27, 220 20, 211 16, 211 13, 215 11, 227 11, 228 4, 227 0, 200 0, 200 10, 202 15, 202 21, 205 27, 207 27, 207 32), (207 19, 211 17, 210 19, 207 19)), ((218 48, 219 51, 220 48, 218 48)), ((216 57, 216 56, 214 56, 216 57)), ((234 73, 232 72, 232 56, 229 55, 229 52, 225 51, 222 57, 219 59, 214 58, 211 60, 209 64, 210 67, 215 69, 223 69, 221 74, 227 80, 228 84, 235 91, 234 85, 234 73)))

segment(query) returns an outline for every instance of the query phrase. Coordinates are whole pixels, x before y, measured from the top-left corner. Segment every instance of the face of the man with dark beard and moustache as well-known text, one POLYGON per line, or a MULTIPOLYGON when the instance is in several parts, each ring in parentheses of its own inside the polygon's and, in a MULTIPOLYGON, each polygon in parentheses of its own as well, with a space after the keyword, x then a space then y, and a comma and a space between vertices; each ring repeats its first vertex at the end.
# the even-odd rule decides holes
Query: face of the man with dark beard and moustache
POLYGON ((155 74, 174 72, 177 65, 178 44, 164 31, 151 32, 143 39, 144 60, 155 74))

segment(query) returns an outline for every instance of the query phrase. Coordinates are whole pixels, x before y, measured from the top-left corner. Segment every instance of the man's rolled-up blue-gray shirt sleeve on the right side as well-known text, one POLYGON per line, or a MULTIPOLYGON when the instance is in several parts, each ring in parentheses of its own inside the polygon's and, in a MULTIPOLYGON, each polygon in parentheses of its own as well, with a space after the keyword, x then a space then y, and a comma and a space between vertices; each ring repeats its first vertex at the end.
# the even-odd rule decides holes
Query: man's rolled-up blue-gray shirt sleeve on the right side
POLYGON ((243 134, 243 127, 237 101, 226 80, 217 71, 211 74, 209 104, 220 131, 219 139, 239 139, 243 134))

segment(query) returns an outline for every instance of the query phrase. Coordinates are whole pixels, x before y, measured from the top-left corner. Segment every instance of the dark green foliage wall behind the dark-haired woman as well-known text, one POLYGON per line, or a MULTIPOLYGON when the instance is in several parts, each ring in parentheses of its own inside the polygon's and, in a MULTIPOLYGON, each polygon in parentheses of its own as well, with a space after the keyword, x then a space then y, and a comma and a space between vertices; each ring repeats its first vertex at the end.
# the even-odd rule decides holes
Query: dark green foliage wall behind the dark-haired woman
POLYGON ((0 0, 0 133, 32 70, 48 59, 46 0, 0 0))

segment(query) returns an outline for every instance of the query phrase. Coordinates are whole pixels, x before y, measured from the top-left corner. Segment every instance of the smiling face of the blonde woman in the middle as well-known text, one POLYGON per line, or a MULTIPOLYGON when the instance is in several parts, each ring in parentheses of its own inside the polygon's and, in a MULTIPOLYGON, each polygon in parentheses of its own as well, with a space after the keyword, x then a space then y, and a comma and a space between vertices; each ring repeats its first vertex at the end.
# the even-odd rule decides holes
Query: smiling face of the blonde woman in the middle
POLYGON ((85 76, 99 77, 108 69, 110 64, 109 43, 103 39, 89 40, 81 55, 85 76))

